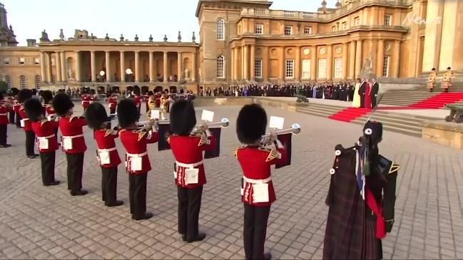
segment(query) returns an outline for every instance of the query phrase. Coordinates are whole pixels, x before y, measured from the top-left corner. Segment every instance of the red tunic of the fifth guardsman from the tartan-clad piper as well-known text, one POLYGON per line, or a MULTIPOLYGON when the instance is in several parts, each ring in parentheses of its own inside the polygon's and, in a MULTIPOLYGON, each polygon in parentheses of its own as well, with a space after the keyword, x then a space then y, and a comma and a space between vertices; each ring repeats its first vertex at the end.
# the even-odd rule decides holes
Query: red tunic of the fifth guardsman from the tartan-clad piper
POLYGON ((59 130, 61 130, 63 138, 72 137, 72 149, 64 150, 64 145, 62 145, 64 152, 76 154, 87 150, 82 130, 84 125, 87 125, 87 121, 84 118, 78 118, 76 116, 61 118, 59 120, 59 130))

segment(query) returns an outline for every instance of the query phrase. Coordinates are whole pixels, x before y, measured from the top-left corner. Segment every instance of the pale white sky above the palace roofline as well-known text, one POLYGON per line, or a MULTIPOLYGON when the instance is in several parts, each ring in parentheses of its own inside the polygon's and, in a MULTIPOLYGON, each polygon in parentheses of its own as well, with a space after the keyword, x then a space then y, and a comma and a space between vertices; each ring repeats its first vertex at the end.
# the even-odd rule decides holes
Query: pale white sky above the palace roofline
MULTIPOLYGON (((337 0, 328 0, 328 7, 337 0)), ((46 30, 50 39, 59 38, 62 28, 65 38, 73 37, 75 29, 87 30, 98 38, 119 39, 121 33, 140 41, 177 41, 178 31, 183 41, 191 41, 193 31, 198 37, 195 17, 198 0, 0 0, 8 12, 16 41, 26 46, 27 38, 39 41, 46 30)), ((316 11, 322 0, 273 0, 271 9, 316 11)))

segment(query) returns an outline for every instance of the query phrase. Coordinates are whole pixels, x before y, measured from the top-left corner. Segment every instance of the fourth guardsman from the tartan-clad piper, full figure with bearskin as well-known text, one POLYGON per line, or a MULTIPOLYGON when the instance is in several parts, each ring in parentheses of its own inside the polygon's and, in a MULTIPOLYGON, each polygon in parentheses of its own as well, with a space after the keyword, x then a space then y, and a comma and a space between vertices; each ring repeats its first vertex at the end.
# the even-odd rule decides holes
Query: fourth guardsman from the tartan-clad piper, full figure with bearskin
POLYGON ((116 199, 118 165, 121 164, 121 157, 114 141, 118 137, 118 132, 109 127, 111 118, 108 118, 105 108, 100 103, 88 106, 85 119, 88 128, 93 129, 93 138, 98 147, 96 155, 103 175, 101 179, 103 202, 108 207, 121 206, 123 202, 116 199))

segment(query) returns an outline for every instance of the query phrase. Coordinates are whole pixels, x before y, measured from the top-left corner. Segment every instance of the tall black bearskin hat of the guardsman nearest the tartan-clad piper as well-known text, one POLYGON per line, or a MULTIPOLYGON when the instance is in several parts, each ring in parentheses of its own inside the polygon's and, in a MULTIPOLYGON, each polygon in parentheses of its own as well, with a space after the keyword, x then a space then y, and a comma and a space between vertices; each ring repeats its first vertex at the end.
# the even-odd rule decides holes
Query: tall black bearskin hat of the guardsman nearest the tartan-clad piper
POLYGON ((236 122, 236 133, 240 142, 247 145, 255 144, 265 135, 266 128, 267 113, 260 105, 251 104, 241 108, 236 122))

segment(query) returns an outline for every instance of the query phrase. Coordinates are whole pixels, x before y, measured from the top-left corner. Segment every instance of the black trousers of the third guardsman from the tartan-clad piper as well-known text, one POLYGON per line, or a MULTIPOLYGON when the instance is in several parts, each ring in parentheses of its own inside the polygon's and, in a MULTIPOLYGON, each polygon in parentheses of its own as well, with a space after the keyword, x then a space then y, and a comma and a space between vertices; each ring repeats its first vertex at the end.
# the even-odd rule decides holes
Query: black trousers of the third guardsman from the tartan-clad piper
POLYGON ((128 200, 131 204, 131 214, 141 219, 146 213, 146 177, 148 172, 133 175, 128 174, 128 200))

